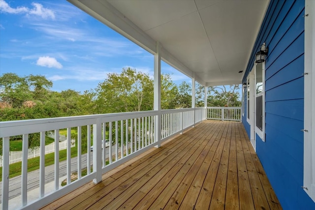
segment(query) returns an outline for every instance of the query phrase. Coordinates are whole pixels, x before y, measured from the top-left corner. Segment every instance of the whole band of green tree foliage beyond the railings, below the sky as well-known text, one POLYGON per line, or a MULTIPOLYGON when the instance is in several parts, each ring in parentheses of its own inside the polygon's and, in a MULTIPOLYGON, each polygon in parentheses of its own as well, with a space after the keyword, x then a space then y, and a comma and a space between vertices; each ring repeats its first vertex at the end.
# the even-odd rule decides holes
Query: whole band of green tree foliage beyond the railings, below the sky
MULTIPOLYGON (((153 110, 154 81, 146 73, 123 68, 110 73, 95 90, 53 91, 52 81, 42 75, 0 76, 0 120, 28 120, 65 116, 153 110)), ((176 85, 171 75, 161 75, 161 109, 191 107, 191 85, 176 85)), ((204 106, 204 87, 196 83, 196 107, 204 106)), ((209 87, 208 106, 241 106, 239 86, 209 87)), ((86 136, 83 127, 82 135, 86 136)), ((12 137, 19 139, 21 136, 12 137)), ((29 138, 30 147, 39 145, 39 134, 29 138)), ((2 144, 0 145, 0 147, 2 144)))

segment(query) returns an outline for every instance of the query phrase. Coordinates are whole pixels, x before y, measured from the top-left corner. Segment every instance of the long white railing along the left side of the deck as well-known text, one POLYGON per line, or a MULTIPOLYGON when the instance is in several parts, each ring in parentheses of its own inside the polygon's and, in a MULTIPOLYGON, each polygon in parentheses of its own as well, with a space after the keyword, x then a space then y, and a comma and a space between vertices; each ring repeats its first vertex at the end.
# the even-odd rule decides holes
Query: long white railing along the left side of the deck
MULTIPOLYGON (((2 190, 1 209, 6 210, 14 203, 15 209, 39 209, 55 199, 93 180, 98 183, 102 174, 125 163, 137 155, 155 147, 174 134, 183 132, 205 119, 206 109, 188 108, 162 111, 117 113, 91 116, 77 116, 38 120, 0 122, 2 138, 2 190), (204 113, 202 113, 204 112, 204 113), (55 143, 59 142, 59 130, 67 129, 66 168, 60 167, 59 144, 55 144, 55 164, 52 172, 45 172, 45 132, 55 133, 55 143), (71 130, 77 133, 77 144, 71 150, 71 130), (29 134, 40 133, 40 162, 37 198, 30 200, 28 193, 28 138, 29 134), (9 141, 10 137, 23 135, 22 176, 19 202, 10 195, 9 188, 9 141), (102 140, 109 141, 109 147, 102 147, 102 140), (91 146, 93 144, 93 151, 91 146), (83 155, 83 151, 87 154, 83 155), (76 153, 77 163, 72 164, 71 154, 76 153), (86 156, 86 160, 83 160, 86 156), (82 170, 87 170, 87 175, 82 170), (64 175, 62 173, 64 172, 64 175), (78 179, 71 182, 71 173, 77 172, 78 179), (46 187, 48 176, 53 176, 53 191, 46 187), (65 176, 67 184, 61 187, 60 179, 65 176), (16 205, 19 204, 18 207, 16 205)), ((46 169, 47 170, 47 169, 46 169)), ((34 184, 34 183, 32 183, 34 184)), ((16 191, 16 190, 15 190, 16 191)), ((17 195, 15 195, 17 196, 17 195)), ((18 197, 17 197, 18 198, 18 197)))

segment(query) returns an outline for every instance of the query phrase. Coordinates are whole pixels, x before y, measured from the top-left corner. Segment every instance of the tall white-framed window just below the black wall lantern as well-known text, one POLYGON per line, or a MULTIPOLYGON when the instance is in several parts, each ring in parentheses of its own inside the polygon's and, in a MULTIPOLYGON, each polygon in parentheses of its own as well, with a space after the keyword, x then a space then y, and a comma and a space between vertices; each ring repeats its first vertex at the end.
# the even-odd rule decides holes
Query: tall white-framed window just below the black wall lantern
POLYGON ((255 131, 264 141, 264 62, 255 66, 255 131))

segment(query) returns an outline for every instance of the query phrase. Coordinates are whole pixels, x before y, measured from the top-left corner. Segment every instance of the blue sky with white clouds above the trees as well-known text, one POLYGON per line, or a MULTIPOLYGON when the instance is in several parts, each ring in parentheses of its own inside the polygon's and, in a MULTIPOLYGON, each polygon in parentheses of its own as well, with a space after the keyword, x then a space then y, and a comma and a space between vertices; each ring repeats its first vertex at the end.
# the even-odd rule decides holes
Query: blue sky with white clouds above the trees
MULTIPOLYGON (((66 0, 0 0, 0 75, 44 75, 54 91, 83 92, 124 67, 153 78, 154 56, 66 0)), ((191 83, 164 62, 161 72, 191 83)))

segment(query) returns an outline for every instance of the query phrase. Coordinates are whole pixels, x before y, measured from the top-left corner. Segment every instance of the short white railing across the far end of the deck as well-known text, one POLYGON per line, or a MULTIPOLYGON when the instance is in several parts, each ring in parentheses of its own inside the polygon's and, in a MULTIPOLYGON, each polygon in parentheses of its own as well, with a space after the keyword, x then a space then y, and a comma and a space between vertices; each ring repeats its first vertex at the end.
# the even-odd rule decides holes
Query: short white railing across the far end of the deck
POLYGON ((208 120, 241 121, 242 107, 207 107, 208 120))

